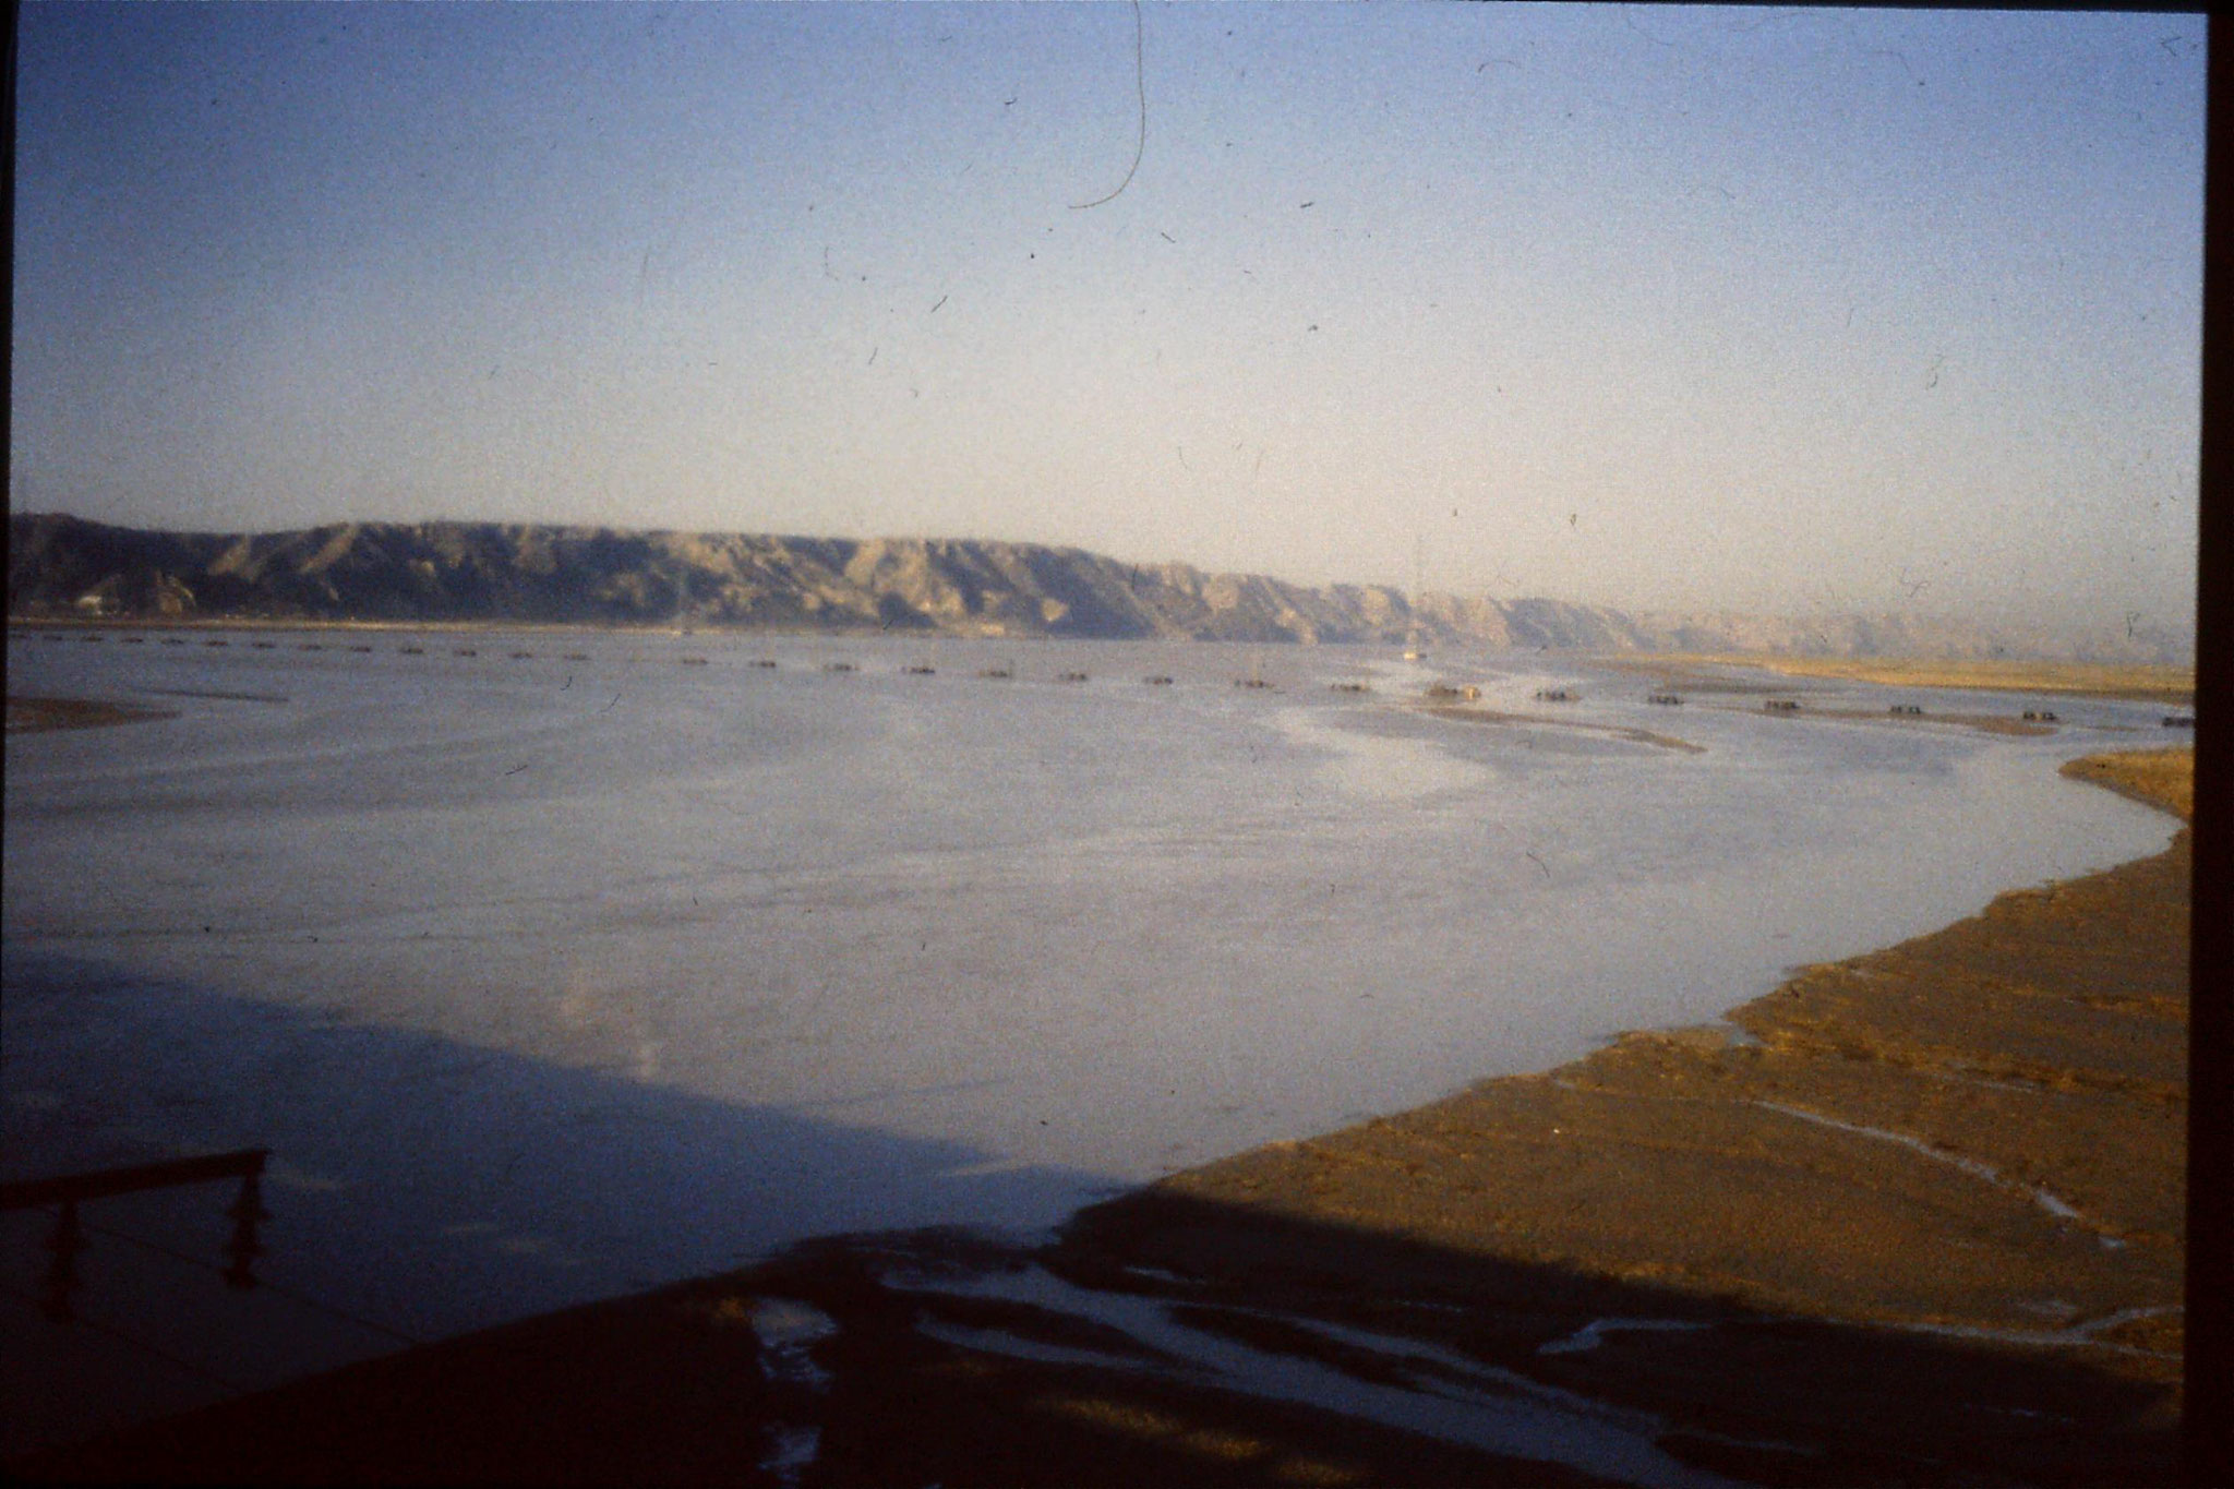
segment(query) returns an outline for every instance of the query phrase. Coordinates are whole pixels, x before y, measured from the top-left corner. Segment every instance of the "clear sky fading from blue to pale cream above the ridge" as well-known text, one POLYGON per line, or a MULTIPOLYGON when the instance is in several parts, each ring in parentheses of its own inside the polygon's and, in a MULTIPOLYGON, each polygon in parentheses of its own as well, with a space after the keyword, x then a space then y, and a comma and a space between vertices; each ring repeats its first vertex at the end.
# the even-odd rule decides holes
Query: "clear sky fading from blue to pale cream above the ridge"
POLYGON ((2192 621, 2196 16, 20 25, 16 511, 2192 621))

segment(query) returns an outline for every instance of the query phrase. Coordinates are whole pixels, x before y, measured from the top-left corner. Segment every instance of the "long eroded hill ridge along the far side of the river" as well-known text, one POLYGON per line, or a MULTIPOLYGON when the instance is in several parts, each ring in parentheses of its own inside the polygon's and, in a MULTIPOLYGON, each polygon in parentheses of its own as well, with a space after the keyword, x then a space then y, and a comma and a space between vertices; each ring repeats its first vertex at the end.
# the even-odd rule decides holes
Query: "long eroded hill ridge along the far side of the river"
MULTIPOLYGON (((13 618, 518 621, 954 636, 1428 643, 1562 652, 2187 661, 2160 632, 2055 643, 1917 616, 1629 614, 1291 585, 1032 542, 498 522, 165 534, 9 516, 13 618)), ((2189 647, 2192 654, 2192 647, 2189 647)))

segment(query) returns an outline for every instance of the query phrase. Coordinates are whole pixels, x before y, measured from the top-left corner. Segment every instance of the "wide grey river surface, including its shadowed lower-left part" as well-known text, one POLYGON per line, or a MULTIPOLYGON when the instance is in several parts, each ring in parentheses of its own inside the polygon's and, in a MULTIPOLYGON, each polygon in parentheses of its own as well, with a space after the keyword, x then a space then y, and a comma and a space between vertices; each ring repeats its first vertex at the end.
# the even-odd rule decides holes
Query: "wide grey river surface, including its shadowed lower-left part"
MULTIPOLYGON (((2163 741, 2140 703, 2020 739, 1885 712, 2013 694, 1798 683, 1794 719, 1506 654, 123 638, 9 636, 13 694, 176 717, 7 741, 4 1165, 270 1147, 275 1288, 87 1261, 87 1315, 228 1386, 809 1235, 1046 1228, 2174 826, 2055 775, 2163 741), (1430 717, 1439 676, 1700 748, 1430 717), (250 1306, 299 1348, 226 1355, 250 1306)), ((94 1239, 192 1252, 221 1203, 94 1239)), ((9 1217, 16 1308, 40 1237, 9 1217)))

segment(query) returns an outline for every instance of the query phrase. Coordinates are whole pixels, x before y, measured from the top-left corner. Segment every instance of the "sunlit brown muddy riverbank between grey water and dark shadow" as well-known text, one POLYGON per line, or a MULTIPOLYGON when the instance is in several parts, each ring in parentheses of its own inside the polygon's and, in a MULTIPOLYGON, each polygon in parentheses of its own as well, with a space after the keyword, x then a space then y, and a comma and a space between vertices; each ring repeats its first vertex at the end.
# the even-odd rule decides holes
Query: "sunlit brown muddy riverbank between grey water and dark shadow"
MULTIPOLYGON (((1758 1045, 1629 1036, 1110 1212, 1168 1194, 1769 1313, 2062 1331, 2100 1353, 2073 1331, 2180 1301, 2178 859, 2185 844, 1812 969, 1736 1011, 1758 1045)), ((2176 1375, 2147 1355, 2093 1364, 2176 1375)))

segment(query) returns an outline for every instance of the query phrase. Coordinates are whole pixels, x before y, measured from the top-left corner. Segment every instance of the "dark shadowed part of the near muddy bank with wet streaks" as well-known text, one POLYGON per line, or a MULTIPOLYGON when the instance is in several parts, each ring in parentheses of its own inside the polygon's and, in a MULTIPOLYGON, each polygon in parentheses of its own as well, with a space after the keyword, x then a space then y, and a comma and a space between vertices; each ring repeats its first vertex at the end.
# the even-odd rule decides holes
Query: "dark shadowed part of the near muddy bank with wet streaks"
POLYGON ((1037 1252, 958 1232, 809 1243, 9 1469, 109 1482, 2154 1485, 2176 1473, 2174 1440, 2167 1389, 2051 1351, 1765 1317, 1146 1192, 1083 1212, 1037 1252))

